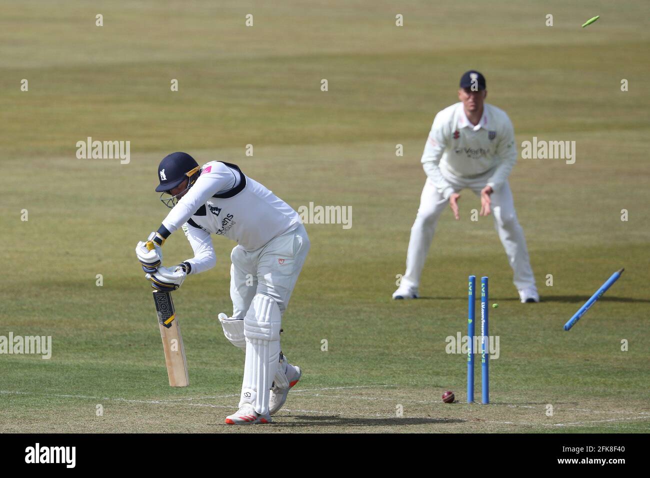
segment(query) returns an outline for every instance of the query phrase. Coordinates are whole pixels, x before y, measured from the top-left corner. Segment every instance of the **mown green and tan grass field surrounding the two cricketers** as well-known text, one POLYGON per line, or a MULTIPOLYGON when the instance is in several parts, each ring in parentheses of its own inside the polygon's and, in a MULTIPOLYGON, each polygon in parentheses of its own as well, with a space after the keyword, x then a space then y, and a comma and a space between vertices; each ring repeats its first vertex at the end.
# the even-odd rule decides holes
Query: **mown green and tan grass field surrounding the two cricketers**
MULTIPOLYGON (((282 5, 0 6, 0 336, 53 340, 50 360, 0 355, 0 431, 650 431, 647 2, 282 5), (488 101, 510 115, 519 144, 577 142, 574 165, 520 159, 510 180, 539 304, 519 304, 491 217, 470 220, 479 204, 469 191, 461 220, 439 222, 424 298, 390 299, 426 135, 469 68, 486 75, 488 101), (88 136, 130 140, 131 162, 76 159, 88 136), (134 248, 166 215, 155 168, 177 150, 237 163, 294 208, 352 206, 349 230, 306 225, 311 252, 283 320, 283 351, 304 378, 274 425, 223 425, 243 368, 216 321, 231 310, 234 243, 223 238, 216 267, 174 293, 190 386, 168 386, 134 248), (488 275, 499 304, 489 406, 465 404, 465 356, 445 352, 447 336, 466 333, 469 274, 488 275), (445 390, 458 403, 443 404, 445 390)), ((164 246, 166 264, 190 253, 180 233, 164 246)))

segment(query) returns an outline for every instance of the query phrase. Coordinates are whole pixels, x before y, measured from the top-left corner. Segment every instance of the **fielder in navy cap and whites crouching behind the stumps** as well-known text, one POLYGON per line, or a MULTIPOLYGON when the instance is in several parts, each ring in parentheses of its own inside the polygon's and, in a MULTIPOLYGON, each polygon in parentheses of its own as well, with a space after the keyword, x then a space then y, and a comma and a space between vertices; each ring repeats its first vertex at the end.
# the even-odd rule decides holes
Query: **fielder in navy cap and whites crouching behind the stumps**
POLYGON ((539 302, 526 238, 512 200, 508 176, 517 161, 512 122, 501 109, 485 103, 486 82, 471 70, 460 81, 456 103, 435 115, 422 166, 426 183, 411 228, 406 273, 393 299, 417 299, 424 260, 435 225, 447 203, 458 214, 460 191, 469 188, 481 200, 480 215, 494 215, 499 238, 514 272, 521 302, 539 302))

